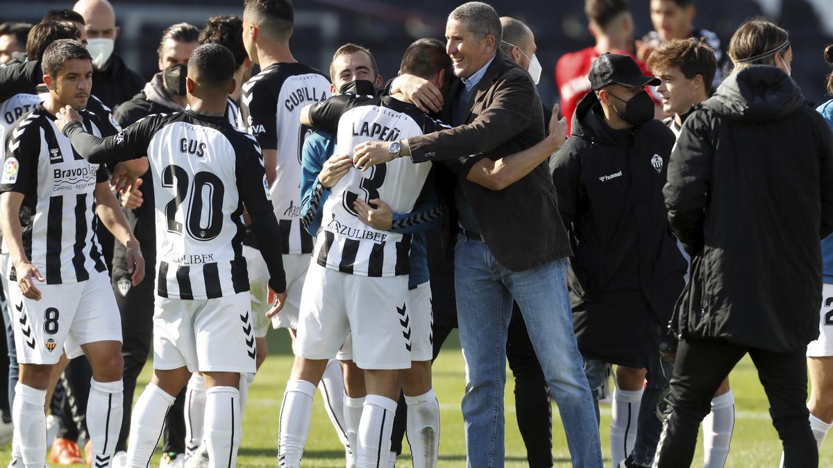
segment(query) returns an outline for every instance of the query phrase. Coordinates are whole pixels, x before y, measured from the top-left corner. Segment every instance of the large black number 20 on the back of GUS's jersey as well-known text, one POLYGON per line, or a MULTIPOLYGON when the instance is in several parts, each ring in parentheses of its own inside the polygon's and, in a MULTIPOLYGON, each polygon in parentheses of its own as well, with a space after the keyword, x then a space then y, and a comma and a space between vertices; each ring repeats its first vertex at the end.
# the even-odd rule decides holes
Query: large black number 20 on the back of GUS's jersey
POLYGON ((162 170, 162 187, 175 187, 173 199, 165 206, 167 231, 182 234, 182 223, 177 221, 177 210, 191 192, 191 202, 185 213, 189 236, 197 241, 211 241, 222 231, 222 196, 220 177, 212 172, 197 172, 193 184, 188 172, 175 164, 162 170), (176 183, 176 186, 174 184, 176 183))

